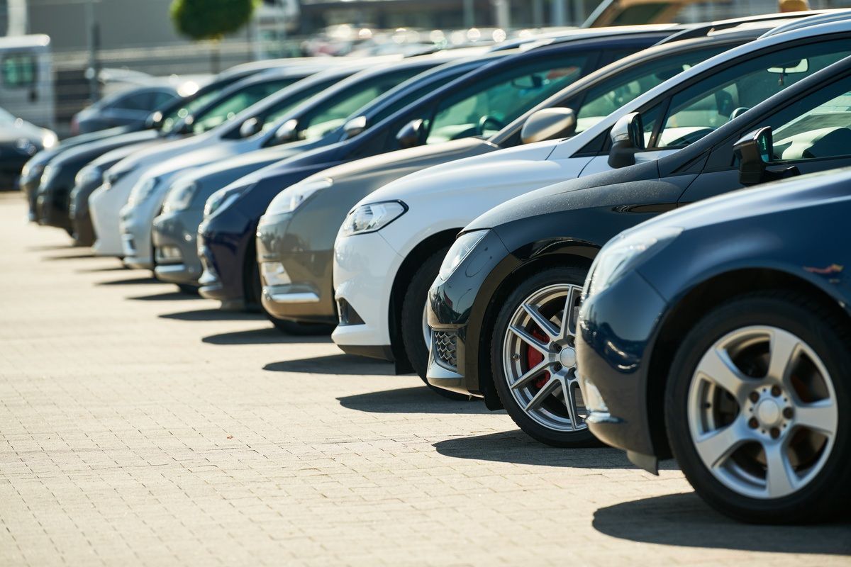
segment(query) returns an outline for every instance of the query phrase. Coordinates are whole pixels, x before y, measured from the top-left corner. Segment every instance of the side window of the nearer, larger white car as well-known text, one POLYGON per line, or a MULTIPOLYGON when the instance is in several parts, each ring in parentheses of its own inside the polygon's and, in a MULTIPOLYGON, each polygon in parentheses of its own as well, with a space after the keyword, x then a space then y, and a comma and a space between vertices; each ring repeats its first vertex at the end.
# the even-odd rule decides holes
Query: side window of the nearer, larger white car
POLYGON ((807 43, 740 61, 671 97, 655 147, 683 147, 768 97, 851 54, 848 38, 807 43))

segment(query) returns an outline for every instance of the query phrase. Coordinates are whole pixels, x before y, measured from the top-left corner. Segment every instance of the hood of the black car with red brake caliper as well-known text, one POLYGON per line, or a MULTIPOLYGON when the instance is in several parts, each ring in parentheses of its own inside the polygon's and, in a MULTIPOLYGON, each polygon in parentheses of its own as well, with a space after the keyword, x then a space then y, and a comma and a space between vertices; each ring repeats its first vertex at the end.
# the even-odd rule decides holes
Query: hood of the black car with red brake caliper
MULTIPOLYGON (((627 201, 640 201, 637 196, 625 194, 631 183, 659 178, 657 161, 638 163, 530 191, 505 201, 479 216, 464 230, 492 229, 523 218, 542 214, 578 210, 587 207, 618 206, 627 201), (607 189, 608 188, 608 189, 607 189)), ((639 187, 635 188, 640 191, 639 187)))

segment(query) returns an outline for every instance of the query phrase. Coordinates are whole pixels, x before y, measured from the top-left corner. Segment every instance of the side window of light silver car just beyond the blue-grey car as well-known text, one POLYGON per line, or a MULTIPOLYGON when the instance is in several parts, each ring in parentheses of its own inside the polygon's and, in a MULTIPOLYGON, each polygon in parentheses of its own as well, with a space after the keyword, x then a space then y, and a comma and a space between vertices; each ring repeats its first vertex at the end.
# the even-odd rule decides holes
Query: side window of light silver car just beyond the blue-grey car
POLYGON ((424 71, 422 67, 408 67, 402 71, 355 82, 303 117, 299 122, 299 138, 308 140, 322 138, 326 133, 340 128, 354 112, 422 71, 424 71))

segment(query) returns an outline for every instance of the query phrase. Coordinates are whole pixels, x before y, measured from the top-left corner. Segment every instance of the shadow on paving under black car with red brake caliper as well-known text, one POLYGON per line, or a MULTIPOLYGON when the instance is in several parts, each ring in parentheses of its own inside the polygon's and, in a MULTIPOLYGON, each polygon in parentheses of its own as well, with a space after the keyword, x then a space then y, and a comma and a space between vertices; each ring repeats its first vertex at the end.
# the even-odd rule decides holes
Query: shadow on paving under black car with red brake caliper
POLYGON ((609 447, 565 450, 544 445, 523 431, 456 437, 434 444, 438 453, 460 459, 571 468, 635 468, 623 451, 609 447))

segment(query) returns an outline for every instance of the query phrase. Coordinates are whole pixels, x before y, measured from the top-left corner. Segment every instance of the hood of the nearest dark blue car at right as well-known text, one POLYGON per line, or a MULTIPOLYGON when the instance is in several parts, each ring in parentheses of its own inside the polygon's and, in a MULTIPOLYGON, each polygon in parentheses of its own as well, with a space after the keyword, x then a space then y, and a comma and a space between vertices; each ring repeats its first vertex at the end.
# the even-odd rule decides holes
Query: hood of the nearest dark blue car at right
POLYGON ((851 167, 810 173, 711 197, 665 213, 624 234, 661 227, 692 230, 711 224, 823 205, 825 201, 847 201, 849 184, 851 167))

